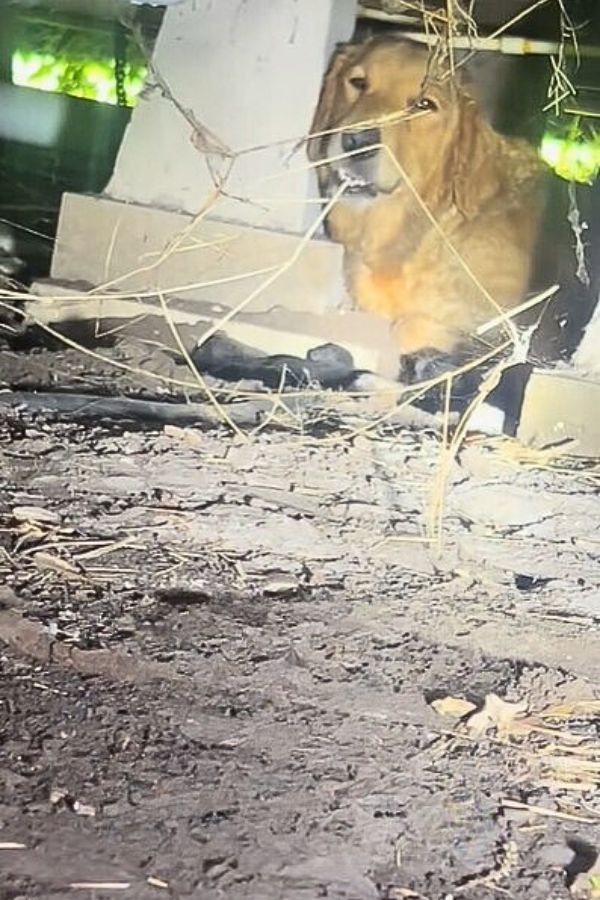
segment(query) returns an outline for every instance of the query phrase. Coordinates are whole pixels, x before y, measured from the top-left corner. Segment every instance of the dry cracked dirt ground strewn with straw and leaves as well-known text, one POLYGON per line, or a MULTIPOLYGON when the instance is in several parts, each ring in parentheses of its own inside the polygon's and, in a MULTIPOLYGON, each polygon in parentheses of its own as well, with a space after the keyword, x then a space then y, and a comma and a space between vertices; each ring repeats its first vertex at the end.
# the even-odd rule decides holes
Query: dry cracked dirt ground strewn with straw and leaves
POLYGON ((2 900, 593 896, 597 467, 1 417, 2 900))

